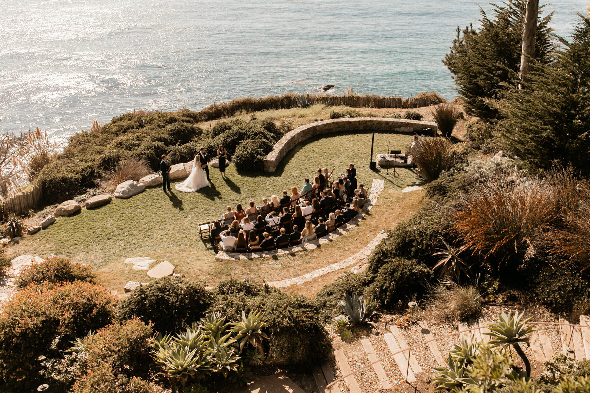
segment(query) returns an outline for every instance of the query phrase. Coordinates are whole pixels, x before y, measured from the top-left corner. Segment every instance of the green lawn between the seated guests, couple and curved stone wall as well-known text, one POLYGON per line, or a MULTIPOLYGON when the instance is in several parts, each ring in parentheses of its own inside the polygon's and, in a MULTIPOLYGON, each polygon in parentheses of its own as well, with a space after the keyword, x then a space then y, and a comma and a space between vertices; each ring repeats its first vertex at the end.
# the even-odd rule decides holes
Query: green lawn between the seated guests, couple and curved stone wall
MULTIPOLYGON (((375 133, 373 157, 385 152, 388 141, 390 149, 405 150, 411 138, 408 134, 379 131, 375 133)), ((212 187, 196 193, 174 190, 169 196, 160 188, 147 189, 129 200, 114 199, 97 210, 83 209, 76 216, 60 217, 47 230, 21 241, 15 251, 41 256, 54 253, 98 269, 102 267, 111 275, 119 275, 117 271, 123 266, 124 270, 130 270, 122 260, 134 256, 171 262, 175 259, 185 270, 190 270, 192 263, 212 262, 215 256, 211 247, 199 239, 199 222, 218 219, 228 205, 235 209, 235 204, 241 202, 246 207, 251 198, 261 204, 263 197, 270 199, 271 194, 280 195, 291 186, 300 188, 306 176, 313 179, 317 167, 331 170, 336 166, 335 173, 340 173, 349 163, 355 163, 358 181, 365 183, 367 189, 373 179, 385 179, 386 189, 399 189, 415 181, 414 174, 407 169, 398 169, 395 178, 391 173, 386 175, 385 170, 369 170, 370 152, 370 132, 310 138, 293 148, 275 173, 237 173, 229 166, 226 172, 229 180, 223 180, 219 171, 211 168, 212 187)), ((145 277, 145 272, 130 270, 129 273, 145 277)), ((132 279, 131 276, 125 275, 125 279, 132 279)))

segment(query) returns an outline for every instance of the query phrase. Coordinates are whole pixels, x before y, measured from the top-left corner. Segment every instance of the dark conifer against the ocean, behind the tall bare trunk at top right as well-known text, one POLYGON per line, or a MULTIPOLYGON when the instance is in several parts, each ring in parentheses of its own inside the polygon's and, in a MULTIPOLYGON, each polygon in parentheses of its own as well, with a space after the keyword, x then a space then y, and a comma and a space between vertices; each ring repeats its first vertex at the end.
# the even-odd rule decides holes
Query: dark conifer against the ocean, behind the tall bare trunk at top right
MULTIPOLYGON (((497 110, 488 100, 497 100, 506 88, 504 84, 519 82, 526 0, 494 5, 491 18, 481 8, 480 13, 481 28, 476 30, 470 25, 461 30, 457 27, 457 38, 442 62, 454 75, 467 113, 493 119, 497 117, 497 110)), ((548 64, 555 49, 553 29, 548 27, 552 15, 537 22, 533 60, 540 64, 548 64)))

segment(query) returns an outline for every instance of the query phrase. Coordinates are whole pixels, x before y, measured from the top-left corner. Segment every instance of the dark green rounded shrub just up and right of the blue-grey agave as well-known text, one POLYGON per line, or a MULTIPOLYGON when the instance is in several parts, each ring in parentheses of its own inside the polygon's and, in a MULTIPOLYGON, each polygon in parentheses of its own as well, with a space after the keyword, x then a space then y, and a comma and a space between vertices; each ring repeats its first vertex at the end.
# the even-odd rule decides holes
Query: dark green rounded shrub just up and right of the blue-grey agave
POLYGON ((394 258, 379 268, 373 277, 370 293, 373 299, 390 308, 405 308, 407 299, 421 295, 432 279, 432 270, 415 259, 394 258))

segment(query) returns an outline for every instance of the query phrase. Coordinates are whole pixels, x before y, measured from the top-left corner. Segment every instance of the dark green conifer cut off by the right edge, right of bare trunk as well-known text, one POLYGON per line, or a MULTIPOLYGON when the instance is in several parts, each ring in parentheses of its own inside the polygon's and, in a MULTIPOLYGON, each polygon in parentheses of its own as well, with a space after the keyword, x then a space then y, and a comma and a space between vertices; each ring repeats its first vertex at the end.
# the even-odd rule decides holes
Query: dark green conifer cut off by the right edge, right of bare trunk
POLYGON ((554 64, 536 65, 525 90, 512 87, 498 106, 501 137, 523 166, 572 166, 590 174, 590 19, 581 14, 554 64))

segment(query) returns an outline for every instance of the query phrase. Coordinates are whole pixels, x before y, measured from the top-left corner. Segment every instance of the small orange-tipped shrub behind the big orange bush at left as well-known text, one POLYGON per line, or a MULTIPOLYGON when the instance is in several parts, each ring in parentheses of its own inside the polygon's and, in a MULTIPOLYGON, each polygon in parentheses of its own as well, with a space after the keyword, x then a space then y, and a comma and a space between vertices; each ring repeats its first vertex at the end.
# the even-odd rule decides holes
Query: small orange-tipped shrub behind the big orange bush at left
POLYGON ((67 258, 53 257, 48 258, 45 262, 25 266, 21 270, 17 285, 18 288, 25 288, 31 283, 75 281, 96 283, 96 274, 90 266, 70 262, 67 258))

